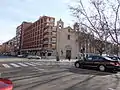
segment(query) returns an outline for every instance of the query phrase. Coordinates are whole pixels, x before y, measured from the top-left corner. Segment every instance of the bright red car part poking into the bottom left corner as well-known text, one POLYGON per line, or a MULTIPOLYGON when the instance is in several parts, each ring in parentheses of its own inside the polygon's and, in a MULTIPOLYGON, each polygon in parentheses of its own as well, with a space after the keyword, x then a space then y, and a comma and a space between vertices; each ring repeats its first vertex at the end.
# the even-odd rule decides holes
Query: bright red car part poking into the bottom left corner
POLYGON ((0 78, 0 90, 13 90, 12 81, 4 78, 0 78))

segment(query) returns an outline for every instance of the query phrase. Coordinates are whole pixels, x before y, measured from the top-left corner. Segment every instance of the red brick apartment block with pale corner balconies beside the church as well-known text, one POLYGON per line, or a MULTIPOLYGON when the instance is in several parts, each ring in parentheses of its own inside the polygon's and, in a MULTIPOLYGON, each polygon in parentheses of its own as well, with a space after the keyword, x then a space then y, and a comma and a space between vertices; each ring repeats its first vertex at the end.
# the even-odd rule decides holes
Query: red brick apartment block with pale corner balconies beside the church
POLYGON ((45 56, 56 49, 56 29, 54 29, 55 18, 42 16, 32 23, 28 28, 22 30, 23 54, 37 54, 45 56))

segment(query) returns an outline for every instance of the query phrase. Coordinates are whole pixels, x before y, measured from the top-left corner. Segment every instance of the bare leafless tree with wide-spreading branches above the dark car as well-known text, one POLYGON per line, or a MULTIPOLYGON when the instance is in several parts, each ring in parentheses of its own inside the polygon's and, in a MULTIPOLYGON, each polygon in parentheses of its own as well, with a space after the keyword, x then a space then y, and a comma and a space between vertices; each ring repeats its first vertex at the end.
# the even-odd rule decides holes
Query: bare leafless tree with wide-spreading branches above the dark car
POLYGON ((77 6, 70 6, 70 10, 73 16, 77 18, 80 27, 87 27, 87 32, 94 35, 97 40, 94 42, 95 47, 97 47, 96 50, 102 54, 106 49, 106 42, 110 39, 110 36, 117 45, 120 45, 120 2, 119 0, 88 1, 90 4, 88 9, 85 7, 88 5, 79 0, 77 6))

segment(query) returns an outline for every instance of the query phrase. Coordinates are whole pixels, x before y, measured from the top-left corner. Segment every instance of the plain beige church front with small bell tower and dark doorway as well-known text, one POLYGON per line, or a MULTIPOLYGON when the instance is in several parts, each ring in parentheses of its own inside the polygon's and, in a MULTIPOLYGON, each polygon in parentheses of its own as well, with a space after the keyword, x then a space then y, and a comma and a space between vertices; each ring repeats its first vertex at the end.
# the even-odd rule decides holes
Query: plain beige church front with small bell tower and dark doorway
POLYGON ((60 19, 57 22, 57 52, 61 58, 76 58, 79 53, 79 46, 75 30, 70 26, 64 27, 64 22, 60 19))

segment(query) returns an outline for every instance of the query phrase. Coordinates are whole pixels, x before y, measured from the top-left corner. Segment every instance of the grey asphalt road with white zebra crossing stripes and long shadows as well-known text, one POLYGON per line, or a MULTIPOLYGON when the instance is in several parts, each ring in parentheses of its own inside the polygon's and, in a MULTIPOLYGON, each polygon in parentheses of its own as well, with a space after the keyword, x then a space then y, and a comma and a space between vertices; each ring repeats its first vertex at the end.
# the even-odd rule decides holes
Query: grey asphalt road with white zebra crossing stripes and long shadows
POLYGON ((120 90, 120 72, 79 69, 69 62, 3 62, 0 72, 14 90, 120 90))

